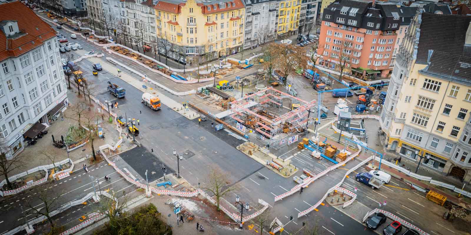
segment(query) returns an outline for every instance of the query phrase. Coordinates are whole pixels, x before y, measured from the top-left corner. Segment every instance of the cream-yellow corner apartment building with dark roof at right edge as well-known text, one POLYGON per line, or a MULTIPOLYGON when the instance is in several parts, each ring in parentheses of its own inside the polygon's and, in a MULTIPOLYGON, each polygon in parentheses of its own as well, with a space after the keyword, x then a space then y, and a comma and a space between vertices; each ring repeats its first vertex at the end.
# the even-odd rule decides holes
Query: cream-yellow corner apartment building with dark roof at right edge
POLYGON ((471 16, 425 12, 399 47, 381 127, 390 151, 469 182, 471 16))

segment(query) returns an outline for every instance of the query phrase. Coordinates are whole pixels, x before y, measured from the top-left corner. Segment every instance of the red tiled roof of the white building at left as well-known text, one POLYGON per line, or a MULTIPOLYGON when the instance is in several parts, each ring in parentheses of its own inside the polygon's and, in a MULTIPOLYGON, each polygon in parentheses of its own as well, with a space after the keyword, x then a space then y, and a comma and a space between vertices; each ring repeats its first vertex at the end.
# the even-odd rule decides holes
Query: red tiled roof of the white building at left
POLYGON ((26 33, 15 39, 7 39, 0 31, 0 61, 22 55, 56 36, 56 31, 49 24, 19 1, 0 4, 0 12, 0 21, 15 20, 20 31, 26 33))

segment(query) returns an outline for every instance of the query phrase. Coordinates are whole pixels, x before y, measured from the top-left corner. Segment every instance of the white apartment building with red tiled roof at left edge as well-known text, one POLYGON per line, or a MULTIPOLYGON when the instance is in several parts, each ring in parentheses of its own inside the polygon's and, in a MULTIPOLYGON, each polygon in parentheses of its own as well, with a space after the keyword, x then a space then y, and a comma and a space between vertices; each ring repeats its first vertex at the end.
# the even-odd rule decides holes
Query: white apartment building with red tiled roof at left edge
POLYGON ((0 12, 0 150, 10 159, 65 109, 67 88, 55 30, 19 1, 0 12))

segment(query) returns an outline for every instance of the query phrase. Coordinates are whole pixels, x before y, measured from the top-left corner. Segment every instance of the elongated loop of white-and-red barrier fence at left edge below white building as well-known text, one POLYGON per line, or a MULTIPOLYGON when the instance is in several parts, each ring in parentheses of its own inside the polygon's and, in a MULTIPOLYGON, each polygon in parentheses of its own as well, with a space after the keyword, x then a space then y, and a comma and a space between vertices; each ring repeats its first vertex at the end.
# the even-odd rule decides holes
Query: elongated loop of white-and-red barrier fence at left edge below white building
MULTIPOLYGON (((28 188, 32 188, 33 186, 36 186, 36 185, 40 185, 42 183, 45 183, 48 181, 48 177, 49 177, 49 169, 52 169, 52 168, 55 168, 56 166, 58 165, 62 165, 62 164, 65 164, 67 162, 70 162, 72 165, 70 168, 68 169, 65 169, 63 171, 60 171, 60 172, 57 172, 57 173, 61 173, 61 172, 70 172, 72 171, 73 169, 73 162, 72 160, 70 160, 70 158, 67 158, 65 160, 62 160, 58 163, 55 163, 55 164, 49 164, 49 165, 41 165, 41 166, 37 166, 33 169, 30 169, 28 171, 25 171, 25 172, 22 172, 22 173, 19 173, 19 174, 16 174, 16 175, 13 175, 13 176, 10 176, 8 177, 8 180, 10 182, 13 182, 21 177, 24 177, 28 174, 32 174, 34 172, 38 172, 38 171, 45 171, 45 175, 44 175, 44 178, 42 178, 41 180, 37 180, 35 182, 32 182, 32 183, 26 183, 25 186, 21 187, 21 188, 16 188, 16 189, 13 189, 13 190, 6 190, 6 191, 1 191, 0 190, 0 196, 8 196, 8 195, 14 195, 14 194, 17 194, 17 193, 20 193, 20 192, 23 192, 24 190, 28 189, 28 188)), ((55 173, 53 176, 57 175, 57 173, 55 173)), ((2 180, 0 182, 0 188, 3 188, 3 186, 7 184, 7 180, 2 180)))

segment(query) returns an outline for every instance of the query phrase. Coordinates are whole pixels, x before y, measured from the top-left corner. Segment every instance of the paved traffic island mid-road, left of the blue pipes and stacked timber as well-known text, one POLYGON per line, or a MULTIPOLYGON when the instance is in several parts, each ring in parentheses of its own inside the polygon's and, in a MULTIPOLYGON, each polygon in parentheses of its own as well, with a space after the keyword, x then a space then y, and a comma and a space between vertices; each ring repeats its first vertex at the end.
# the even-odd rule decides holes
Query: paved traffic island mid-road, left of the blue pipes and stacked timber
POLYGON ((285 161, 278 158, 270 153, 268 149, 260 148, 259 145, 253 142, 247 141, 237 146, 236 149, 285 178, 292 176, 299 170, 295 165, 291 164, 291 160, 285 161))

